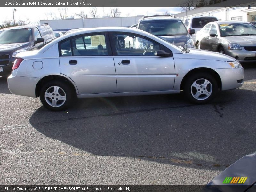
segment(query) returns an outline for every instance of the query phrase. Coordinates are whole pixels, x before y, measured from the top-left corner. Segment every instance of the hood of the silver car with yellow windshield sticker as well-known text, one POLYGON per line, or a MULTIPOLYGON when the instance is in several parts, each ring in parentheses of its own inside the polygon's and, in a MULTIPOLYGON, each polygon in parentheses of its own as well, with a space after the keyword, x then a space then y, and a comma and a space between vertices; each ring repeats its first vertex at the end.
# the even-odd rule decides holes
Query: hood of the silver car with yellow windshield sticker
POLYGON ((223 37, 229 43, 238 43, 242 47, 244 46, 256 46, 256 35, 247 35, 247 36, 230 36, 230 37, 223 37))

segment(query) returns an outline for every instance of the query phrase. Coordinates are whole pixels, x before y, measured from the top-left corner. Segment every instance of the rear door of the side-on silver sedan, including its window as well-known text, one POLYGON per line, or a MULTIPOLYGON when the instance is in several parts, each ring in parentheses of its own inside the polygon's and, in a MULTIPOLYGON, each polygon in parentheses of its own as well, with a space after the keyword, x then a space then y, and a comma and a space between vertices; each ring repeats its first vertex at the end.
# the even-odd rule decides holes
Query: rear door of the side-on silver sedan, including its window
POLYGON ((60 73, 70 77, 79 94, 113 93, 116 72, 106 33, 74 36, 60 42, 60 73))

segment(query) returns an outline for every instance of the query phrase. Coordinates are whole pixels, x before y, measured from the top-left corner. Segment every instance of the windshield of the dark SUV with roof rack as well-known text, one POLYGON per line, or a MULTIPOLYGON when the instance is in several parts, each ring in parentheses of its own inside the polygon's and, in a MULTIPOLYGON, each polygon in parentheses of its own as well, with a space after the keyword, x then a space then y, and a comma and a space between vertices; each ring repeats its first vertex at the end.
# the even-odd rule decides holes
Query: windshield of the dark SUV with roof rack
POLYGON ((188 31, 181 20, 141 21, 139 29, 156 36, 187 35, 188 31))

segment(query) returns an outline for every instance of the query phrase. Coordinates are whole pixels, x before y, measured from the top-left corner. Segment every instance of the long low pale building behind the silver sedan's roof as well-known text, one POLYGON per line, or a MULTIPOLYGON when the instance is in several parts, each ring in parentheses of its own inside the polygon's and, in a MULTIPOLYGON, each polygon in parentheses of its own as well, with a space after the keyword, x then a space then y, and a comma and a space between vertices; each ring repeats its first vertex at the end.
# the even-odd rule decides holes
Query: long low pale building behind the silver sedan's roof
POLYGON ((68 31, 77 28, 93 27, 130 27, 138 23, 141 16, 136 17, 102 17, 86 19, 41 20, 41 24, 48 24, 53 31, 68 31))

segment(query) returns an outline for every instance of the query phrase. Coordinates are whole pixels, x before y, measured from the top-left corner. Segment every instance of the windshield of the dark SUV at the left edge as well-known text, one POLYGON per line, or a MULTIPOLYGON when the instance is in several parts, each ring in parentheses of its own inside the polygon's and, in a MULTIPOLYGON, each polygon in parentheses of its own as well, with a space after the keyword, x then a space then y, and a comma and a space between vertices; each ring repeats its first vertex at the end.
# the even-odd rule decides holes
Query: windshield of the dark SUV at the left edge
POLYGON ((26 43, 32 39, 31 29, 10 29, 0 32, 0 44, 26 43))

